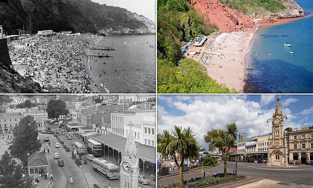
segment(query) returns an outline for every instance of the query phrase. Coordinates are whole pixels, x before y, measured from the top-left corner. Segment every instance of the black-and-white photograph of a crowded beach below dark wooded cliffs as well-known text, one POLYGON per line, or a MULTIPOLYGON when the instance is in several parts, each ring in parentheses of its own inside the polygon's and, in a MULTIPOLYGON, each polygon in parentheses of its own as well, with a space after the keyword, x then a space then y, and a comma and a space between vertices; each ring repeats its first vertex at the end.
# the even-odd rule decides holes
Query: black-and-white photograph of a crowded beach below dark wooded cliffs
POLYGON ((0 0, 0 93, 156 93, 156 0, 0 0))

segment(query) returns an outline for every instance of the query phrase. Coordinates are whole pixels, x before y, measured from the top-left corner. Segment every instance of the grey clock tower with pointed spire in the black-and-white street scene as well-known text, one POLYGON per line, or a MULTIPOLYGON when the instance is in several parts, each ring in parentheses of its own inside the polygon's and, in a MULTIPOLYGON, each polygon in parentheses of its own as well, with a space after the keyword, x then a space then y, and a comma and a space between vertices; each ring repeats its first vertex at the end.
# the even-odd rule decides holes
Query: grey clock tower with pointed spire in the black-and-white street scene
POLYGON ((120 165, 120 188, 138 188, 139 158, 131 130, 131 122, 120 165))

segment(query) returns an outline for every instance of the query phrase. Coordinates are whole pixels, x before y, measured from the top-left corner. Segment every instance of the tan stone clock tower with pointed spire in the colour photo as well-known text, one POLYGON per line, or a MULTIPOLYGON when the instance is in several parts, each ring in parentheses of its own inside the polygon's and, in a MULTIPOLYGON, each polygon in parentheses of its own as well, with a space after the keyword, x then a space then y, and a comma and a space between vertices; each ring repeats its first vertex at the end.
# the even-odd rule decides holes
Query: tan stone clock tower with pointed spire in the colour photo
MULTIPOLYGON (((277 97, 277 104, 275 113, 272 119, 272 136, 268 138, 268 160, 267 165, 288 166, 287 162, 287 141, 283 134, 283 120, 287 119, 282 115, 279 98, 277 97)), ((268 121, 269 121, 268 120, 268 121)))

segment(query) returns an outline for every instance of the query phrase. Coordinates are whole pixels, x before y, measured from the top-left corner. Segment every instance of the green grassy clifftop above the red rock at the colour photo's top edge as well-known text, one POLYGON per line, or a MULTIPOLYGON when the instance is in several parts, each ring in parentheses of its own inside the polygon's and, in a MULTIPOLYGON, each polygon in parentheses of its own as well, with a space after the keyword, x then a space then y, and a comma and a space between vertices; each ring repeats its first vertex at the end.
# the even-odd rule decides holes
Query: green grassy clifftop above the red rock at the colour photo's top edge
POLYGON ((219 0, 229 8, 239 10, 245 15, 252 13, 277 13, 286 7, 283 0, 219 0))

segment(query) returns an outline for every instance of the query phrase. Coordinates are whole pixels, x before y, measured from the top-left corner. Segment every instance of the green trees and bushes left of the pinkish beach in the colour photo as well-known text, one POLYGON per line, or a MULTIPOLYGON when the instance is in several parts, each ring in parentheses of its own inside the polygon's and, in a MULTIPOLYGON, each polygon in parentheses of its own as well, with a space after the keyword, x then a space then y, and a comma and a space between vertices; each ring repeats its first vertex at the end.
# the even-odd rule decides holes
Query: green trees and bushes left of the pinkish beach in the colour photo
POLYGON ((205 23, 188 0, 157 0, 158 93, 230 93, 202 71, 204 65, 188 58, 177 62, 181 41, 214 31, 218 28, 205 23))

